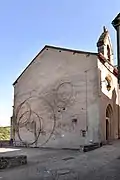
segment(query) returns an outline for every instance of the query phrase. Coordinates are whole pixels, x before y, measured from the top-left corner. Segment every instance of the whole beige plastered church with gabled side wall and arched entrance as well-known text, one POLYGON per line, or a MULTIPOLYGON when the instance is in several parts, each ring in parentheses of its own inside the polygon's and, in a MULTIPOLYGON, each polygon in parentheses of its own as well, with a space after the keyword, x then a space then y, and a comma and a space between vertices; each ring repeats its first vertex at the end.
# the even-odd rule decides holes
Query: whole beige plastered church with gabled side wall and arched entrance
POLYGON ((105 47, 99 54, 43 48, 14 83, 16 142, 79 148, 118 138, 118 84, 105 47))

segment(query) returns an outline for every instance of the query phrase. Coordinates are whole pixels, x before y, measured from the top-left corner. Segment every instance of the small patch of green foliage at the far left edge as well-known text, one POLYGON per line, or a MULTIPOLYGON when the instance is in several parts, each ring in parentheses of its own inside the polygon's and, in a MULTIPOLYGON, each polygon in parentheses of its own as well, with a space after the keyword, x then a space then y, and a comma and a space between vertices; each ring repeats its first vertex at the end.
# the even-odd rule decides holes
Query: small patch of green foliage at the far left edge
POLYGON ((0 127, 0 140, 10 139, 10 127, 0 127))

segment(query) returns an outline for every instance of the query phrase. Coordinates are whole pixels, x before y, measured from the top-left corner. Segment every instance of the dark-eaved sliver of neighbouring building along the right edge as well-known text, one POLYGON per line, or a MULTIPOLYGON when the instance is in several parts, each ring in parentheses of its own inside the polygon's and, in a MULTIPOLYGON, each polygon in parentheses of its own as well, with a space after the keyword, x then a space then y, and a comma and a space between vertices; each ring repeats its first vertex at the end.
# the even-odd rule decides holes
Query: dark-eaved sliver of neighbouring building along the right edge
POLYGON ((120 13, 112 21, 112 25, 117 32, 117 66, 118 66, 118 139, 120 139, 119 130, 119 91, 120 91, 120 13))

